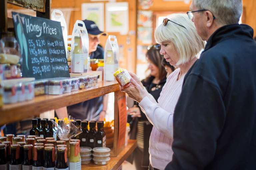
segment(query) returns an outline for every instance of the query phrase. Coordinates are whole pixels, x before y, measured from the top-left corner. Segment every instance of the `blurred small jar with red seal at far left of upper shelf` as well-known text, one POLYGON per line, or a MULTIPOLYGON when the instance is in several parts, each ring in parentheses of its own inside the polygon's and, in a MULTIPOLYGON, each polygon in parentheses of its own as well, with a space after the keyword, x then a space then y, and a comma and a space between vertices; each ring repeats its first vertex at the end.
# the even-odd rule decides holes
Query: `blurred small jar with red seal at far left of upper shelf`
POLYGON ((4 85, 4 104, 17 103, 18 93, 17 87, 14 84, 4 85))

